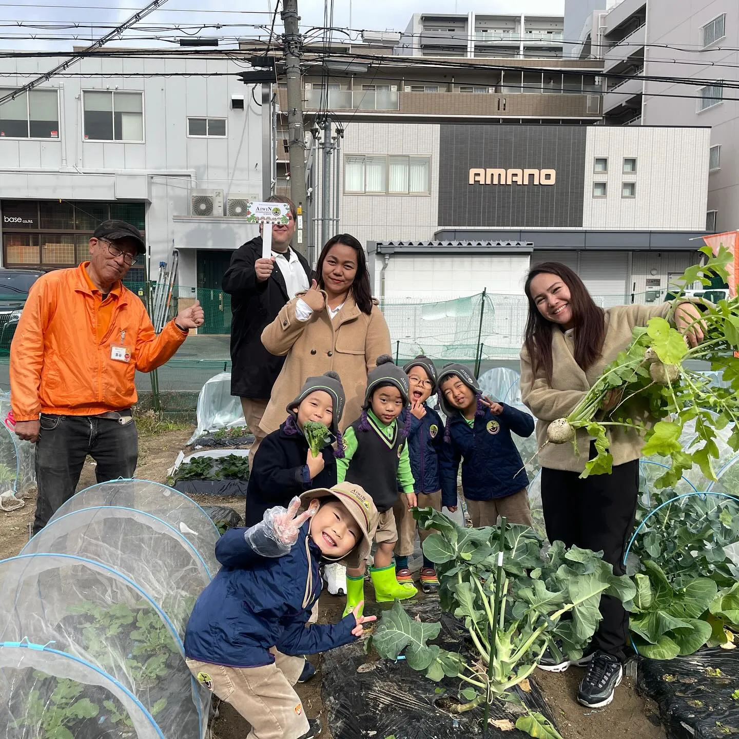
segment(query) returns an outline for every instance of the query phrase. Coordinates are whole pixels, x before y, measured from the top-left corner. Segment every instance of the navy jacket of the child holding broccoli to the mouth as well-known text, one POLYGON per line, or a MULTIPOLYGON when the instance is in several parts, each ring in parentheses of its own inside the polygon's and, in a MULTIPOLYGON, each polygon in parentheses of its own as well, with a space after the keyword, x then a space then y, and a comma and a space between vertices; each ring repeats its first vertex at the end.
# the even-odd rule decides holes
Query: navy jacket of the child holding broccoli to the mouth
POLYGON ((246 488, 247 527, 259 523, 275 505, 287 508, 293 497, 313 488, 336 485, 336 458, 332 446, 324 446, 324 469, 310 479, 305 460, 308 442, 302 433, 287 434, 285 423, 265 436, 254 454, 253 469, 246 488))

